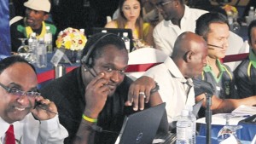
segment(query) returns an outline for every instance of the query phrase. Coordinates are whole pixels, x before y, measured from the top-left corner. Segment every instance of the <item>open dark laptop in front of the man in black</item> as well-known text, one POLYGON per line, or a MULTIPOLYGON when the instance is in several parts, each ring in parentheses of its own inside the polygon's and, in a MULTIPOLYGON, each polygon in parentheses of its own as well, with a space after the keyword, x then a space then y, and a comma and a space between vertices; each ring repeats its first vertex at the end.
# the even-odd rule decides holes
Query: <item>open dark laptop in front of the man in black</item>
POLYGON ((149 107, 126 117, 115 144, 152 143, 165 112, 166 103, 149 107))

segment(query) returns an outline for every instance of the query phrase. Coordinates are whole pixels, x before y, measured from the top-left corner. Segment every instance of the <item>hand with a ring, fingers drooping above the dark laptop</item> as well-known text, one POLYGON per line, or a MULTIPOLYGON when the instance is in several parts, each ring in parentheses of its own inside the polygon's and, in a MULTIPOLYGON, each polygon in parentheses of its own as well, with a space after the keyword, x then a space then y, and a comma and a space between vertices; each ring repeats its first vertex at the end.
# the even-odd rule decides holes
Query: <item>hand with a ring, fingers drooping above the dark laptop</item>
POLYGON ((151 89, 155 88, 153 78, 143 76, 138 78, 130 86, 128 93, 128 100, 125 102, 125 106, 131 106, 133 103, 133 110, 137 111, 138 105, 140 110, 144 109, 144 103, 148 103, 150 98, 151 89))

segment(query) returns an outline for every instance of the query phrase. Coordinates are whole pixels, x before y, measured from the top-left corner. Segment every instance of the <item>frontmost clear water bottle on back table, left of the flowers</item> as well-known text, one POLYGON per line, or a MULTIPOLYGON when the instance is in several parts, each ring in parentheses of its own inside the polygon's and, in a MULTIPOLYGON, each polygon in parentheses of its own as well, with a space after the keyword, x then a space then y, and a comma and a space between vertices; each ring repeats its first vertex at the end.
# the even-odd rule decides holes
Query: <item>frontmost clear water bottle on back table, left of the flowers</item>
POLYGON ((46 67, 47 66, 47 52, 46 52, 46 45, 44 43, 43 37, 39 38, 36 54, 37 54, 38 68, 46 67))

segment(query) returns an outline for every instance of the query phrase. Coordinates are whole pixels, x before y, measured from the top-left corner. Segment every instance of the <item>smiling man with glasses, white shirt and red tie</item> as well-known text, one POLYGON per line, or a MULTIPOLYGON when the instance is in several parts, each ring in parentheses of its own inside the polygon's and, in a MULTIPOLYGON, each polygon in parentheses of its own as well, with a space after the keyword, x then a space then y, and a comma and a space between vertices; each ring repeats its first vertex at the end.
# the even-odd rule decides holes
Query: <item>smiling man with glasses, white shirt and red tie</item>
POLYGON ((0 61, 1 144, 61 144, 67 137, 55 103, 40 96, 37 84, 34 67, 20 56, 0 61))

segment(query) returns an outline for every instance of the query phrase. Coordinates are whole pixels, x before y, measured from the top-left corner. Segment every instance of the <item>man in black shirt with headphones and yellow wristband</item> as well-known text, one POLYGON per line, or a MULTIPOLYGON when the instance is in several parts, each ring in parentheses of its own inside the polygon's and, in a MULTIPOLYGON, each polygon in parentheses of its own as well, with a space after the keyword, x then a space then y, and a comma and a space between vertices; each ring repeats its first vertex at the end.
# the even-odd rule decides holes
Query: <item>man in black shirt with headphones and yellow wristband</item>
MULTIPOLYGON (((81 61, 81 66, 41 89, 59 109, 60 122, 69 133, 65 143, 114 143, 125 115, 137 111, 138 103, 142 110, 144 100, 150 106, 162 102, 153 89, 150 98, 142 92, 133 93, 129 98, 135 103, 133 110, 131 102, 125 106, 132 81, 125 76, 128 53, 120 37, 109 33, 90 37, 81 61)), ((150 81, 148 89, 154 87, 150 81)))

